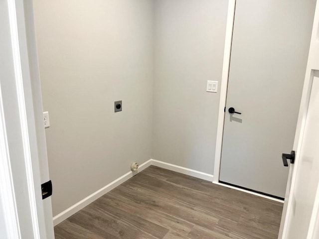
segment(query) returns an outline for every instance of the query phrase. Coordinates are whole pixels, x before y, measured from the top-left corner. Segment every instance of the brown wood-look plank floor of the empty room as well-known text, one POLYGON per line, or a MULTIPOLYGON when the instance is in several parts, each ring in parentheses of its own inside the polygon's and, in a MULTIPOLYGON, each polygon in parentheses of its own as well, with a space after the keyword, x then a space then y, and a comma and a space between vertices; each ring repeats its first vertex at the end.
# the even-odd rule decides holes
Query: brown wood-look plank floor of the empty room
POLYGON ((54 231, 56 239, 277 239, 282 208, 150 166, 54 231))

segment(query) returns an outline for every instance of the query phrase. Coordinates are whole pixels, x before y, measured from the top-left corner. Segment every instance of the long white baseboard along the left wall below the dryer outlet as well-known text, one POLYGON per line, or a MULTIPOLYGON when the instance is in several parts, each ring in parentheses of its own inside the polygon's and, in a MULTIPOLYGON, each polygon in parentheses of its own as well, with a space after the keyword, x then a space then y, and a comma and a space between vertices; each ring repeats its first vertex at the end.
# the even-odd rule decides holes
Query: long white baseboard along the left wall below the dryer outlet
POLYGON ((116 188, 120 184, 124 183, 125 181, 129 180, 132 178, 134 175, 137 173, 143 171, 147 167, 152 165, 152 159, 146 161, 145 163, 141 164, 139 166, 138 171, 136 172, 127 172, 123 176, 117 178, 113 182, 109 183, 108 185, 104 186, 103 188, 99 189, 98 191, 92 193, 91 195, 87 196, 80 202, 74 204, 73 206, 69 207, 68 209, 64 210, 62 213, 59 213, 55 217, 53 217, 53 225, 56 226, 59 223, 63 222, 65 219, 71 217, 73 214, 76 212, 80 211, 82 208, 88 206, 90 203, 94 202, 98 198, 102 197, 104 194, 107 192, 110 192, 112 189, 116 188))

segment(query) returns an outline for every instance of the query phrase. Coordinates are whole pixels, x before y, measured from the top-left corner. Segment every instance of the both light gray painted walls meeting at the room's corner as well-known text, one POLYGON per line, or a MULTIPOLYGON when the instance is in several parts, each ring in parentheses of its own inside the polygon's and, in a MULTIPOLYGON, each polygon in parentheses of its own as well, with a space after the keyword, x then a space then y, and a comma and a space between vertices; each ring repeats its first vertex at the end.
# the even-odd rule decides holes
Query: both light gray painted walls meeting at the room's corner
POLYGON ((133 161, 213 173, 226 0, 34 5, 53 216, 133 161))

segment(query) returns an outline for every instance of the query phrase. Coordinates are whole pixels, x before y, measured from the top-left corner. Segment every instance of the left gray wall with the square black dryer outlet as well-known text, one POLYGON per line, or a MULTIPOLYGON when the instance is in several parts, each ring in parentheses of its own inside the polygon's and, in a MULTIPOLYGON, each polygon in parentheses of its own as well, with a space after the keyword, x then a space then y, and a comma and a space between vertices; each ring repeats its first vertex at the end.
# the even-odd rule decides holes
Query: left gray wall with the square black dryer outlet
POLYGON ((34 5, 55 216, 152 157, 153 2, 34 5))

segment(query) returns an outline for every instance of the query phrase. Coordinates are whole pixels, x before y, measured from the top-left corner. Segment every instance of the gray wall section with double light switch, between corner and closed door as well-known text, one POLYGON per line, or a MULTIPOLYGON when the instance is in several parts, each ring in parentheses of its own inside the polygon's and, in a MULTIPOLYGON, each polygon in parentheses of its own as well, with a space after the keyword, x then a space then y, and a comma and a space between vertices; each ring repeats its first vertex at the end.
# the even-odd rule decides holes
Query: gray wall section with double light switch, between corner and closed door
POLYGON ((213 174, 227 4, 155 0, 154 159, 213 174))

